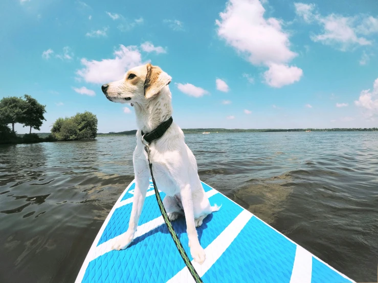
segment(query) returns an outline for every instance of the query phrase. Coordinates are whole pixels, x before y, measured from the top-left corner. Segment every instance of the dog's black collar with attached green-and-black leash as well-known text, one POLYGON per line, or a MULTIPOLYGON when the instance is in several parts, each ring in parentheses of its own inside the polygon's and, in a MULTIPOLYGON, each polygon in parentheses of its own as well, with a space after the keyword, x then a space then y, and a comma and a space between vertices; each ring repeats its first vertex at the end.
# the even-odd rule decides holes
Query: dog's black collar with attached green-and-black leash
POLYGON ((201 277, 199 277, 198 273, 195 271, 192 263, 190 262, 189 257, 186 254, 186 252, 185 252, 185 250, 183 248, 183 245, 181 244, 181 242, 179 240, 179 237, 177 237, 177 234, 176 234, 176 232, 174 231, 174 229, 172 227, 172 224, 171 224, 171 222, 170 222, 170 220, 168 218, 167 211, 165 210, 162 198, 160 197, 160 194, 159 194, 159 191, 158 191, 158 187, 157 187, 157 185, 155 183, 155 179, 153 178, 153 173, 152 173, 151 150, 150 150, 150 148, 149 148, 148 145, 149 145, 149 143, 152 140, 162 137, 163 134, 165 133, 165 131, 172 124, 172 121, 173 121, 173 119, 172 119, 172 117, 170 117, 167 121, 165 121, 162 124, 160 124, 158 126, 158 128, 154 129, 150 133, 145 134, 142 131, 142 143, 144 145, 144 150, 147 152, 148 165, 149 165, 150 172, 151 172, 151 178, 152 178, 153 188, 155 190, 155 196, 156 196, 156 199, 158 201, 158 205, 159 205, 160 211, 162 213, 164 222, 167 225, 168 231, 169 231, 169 233, 172 236, 173 242, 176 245, 177 250, 179 250, 179 253, 180 253, 181 257, 183 258, 183 261, 184 261, 185 265, 188 267, 190 274, 193 276, 194 281, 196 283, 200 283, 200 282, 203 283, 201 277), (147 143, 144 142, 145 140, 147 141, 147 143))

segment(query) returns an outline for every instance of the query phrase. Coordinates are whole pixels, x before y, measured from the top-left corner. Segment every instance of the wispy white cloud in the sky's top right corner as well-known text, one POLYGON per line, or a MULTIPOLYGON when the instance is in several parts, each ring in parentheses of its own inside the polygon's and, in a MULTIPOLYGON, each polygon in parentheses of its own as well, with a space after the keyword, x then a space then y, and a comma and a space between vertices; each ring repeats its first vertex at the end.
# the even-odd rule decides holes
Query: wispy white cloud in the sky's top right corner
POLYGON ((311 35, 310 38, 325 45, 347 51, 360 45, 371 45, 372 41, 361 35, 370 35, 378 32, 378 19, 360 14, 353 17, 344 17, 338 14, 322 16, 314 12, 315 4, 295 3, 296 14, 305 22, 315 21, 322 26, 323 33, 311 35))

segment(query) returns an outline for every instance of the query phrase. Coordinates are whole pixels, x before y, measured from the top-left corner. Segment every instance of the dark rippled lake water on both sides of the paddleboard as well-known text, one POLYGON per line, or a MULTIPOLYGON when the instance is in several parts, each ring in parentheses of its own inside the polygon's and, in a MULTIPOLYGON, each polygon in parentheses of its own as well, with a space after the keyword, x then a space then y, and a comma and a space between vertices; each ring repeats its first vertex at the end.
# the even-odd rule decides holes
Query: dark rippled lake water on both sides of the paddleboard
MULTIPOLYGON (((378 132, 187 134, 201 179, 356 281, 378 264, 378 132)), ((0 146, 0 282, 73 282, 135 136, 0 146)))

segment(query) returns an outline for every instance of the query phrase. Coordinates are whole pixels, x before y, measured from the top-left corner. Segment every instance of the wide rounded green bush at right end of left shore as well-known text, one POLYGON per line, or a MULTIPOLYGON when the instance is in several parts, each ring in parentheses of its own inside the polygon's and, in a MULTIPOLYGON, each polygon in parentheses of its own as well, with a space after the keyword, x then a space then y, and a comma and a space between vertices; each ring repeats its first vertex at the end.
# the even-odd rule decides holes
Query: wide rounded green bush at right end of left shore
POLYGON ((97 117, 85 111, 72 117, 58 118, 51 128, 51 133, 57 140, 96 138, 97 117))

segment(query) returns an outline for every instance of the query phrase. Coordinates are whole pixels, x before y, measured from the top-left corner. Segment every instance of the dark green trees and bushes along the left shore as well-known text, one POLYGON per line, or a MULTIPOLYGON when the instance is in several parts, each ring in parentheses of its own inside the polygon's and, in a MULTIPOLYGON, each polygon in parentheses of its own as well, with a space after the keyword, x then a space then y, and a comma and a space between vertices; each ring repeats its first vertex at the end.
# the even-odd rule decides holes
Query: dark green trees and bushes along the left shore
POLYGON ((51 128, 51 133, 44 137, 32 133, 40 130, 46 105, 29 95, 24 97, 5 97, 0 100, 0 144, 39 143, 42 141, 92 139, 97 136, 97 117, 85 111, 72 117, 58 118, 51 128), (29 134, 17 134, 15 124, 30 127, 29 134), (12 128, 9 127, 12 125, 12 128))

